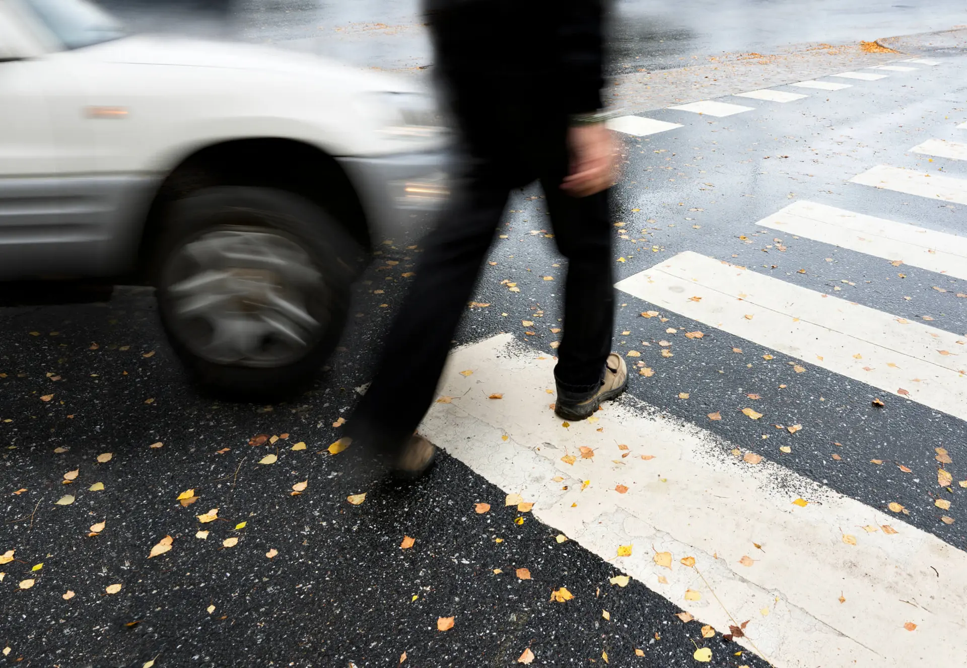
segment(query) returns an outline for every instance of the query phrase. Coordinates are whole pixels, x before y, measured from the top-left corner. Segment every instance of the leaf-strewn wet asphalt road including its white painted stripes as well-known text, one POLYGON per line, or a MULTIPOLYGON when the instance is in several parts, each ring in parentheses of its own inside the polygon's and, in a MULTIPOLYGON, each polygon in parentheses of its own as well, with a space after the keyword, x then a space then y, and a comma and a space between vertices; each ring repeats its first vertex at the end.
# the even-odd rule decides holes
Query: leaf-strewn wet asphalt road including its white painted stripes
POLYGON ((632 376, 592 421, 550 409, 566 265, 513 193, 414 484, 327 449, 419 247, 388 240, 331 368, 273 406, 195 392, 149 291, 2 307, 0 660, 959 665, 956 44, 615 122, 632 376))

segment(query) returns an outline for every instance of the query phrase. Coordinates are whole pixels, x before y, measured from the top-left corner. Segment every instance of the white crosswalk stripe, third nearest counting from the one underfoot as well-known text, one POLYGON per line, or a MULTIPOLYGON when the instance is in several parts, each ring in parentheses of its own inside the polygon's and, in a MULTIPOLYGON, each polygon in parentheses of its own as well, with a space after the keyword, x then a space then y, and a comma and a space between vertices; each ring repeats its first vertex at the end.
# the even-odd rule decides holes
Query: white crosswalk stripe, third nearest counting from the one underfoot
POLYGON ((967 280, 967 238, 953 234, 807 201, 790 204, 756 225, 967 280))

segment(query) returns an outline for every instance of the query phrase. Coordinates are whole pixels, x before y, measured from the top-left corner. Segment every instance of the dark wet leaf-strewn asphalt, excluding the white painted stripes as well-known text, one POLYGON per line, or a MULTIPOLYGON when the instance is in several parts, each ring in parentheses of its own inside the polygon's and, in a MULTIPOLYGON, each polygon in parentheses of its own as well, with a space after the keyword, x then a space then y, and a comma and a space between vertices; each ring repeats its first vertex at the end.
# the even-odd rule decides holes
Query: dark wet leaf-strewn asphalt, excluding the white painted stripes
MULTIPOLYGON (((808 91, 789 104, 726 99, 756 107, 729 118, 649 114, 685 127, 622 138, 614 216, 635 234, 626 240, 615 230, 615 258, 626 259, 616 262, 616 278, 694 250, 813 290, 840 287, 838 296, 911 320, 929 316, 933 327, 967 336, 967 308, 955 297, 967 281, 944 278, 941 293, 937 275, 861 253, 795 239, 779 251, 769 247, 775 231, 755 226, 802 198, 962 234, 962 205, 846 180, 879 163, 967 177, 963 164, 908 153, 925 138, 956 136, 967 120, 965 73, 967 58, 953 53, 937 68, 808 91)), ((498 232, 506 239, 495 239, 496 264, 484 265, 474 297, 489 306, 468 309, 455 342, 509 331, 543 350, 562 316, 560 283, 541 276, 565 263, 544 237, 552 228, 539 189, 514 192, 508 209, 498 232), (508 292, 504 279, 521 291, 508 292), (539 308, 538 334, 518 332, 539 308)), ((371 376, 406 287, 402 274, 419 258, 409 240, 392 241, 377 259, 399 264, 374 262, 356 286, 351 326, 329 368, 309 392, 271 406, 192 388, 149 290, 8 291, 0 307, 0 554, 14 549, 15 560, 0 565, 0 646, 11 648, 3 665, 362 668, 397 665, 405 653, 403 665, 427 668, 510 666, 530 649, 534 665, 603 664, 606 654, 610 665, 667 668, 697 665, 698 647, 713 649, 711 666, 768 665, 720 635, 704 638, 701 624, 682 622, 676 606, 640 583, 612 585, 620 571, 504 508, 500 489, 445 453, 425 479, 401 484, 366 473, 351 450, 326 451, 371 376), (249 445, 260 434, 271 438, 249 445), (299 443, 306 448, 294 450, 299 443), (268 454, 278 461, 259 464, 268 454), (303 480, 306 489, 293 495, 303 480), (91 489, 98 482, 103 490, 91 489), (197 501, 182 506, 177 497, 190 489, 197 501), (362 492, 365 503, 346 503, 362 492), (56 505, 68 494, 72 504, 56 505), (491 510, 478 514, 478 503, 491 510), (200 523, 196 516, 212 508, 218 519, 200 523), (165 537, 171 549, 149 559, 165 537), (404 537, 416 538, 413 547, 400 549, 404 537), (530 579, 517 577, 521 567, 530 579), (22 589, 28 579, 33 586, 22 589), (109 594, 110 585, 121 587, 109 594), (551 600, 561 587, 573 599, 551 600), (449 617, 454 627, 437 630, 449 617)), ((898 522, 967 548, 967 505, 954 503, 946 511, 954 523, 942 522, 934 500, 948 492, 932 479, 940 446, 952 453, 953 479, 967 478, 962 421, 808 363, 796 373, 791 358, 680 316, 641 318, 654 306, 630 296, 618 302, 619 351, 654 350, 669 326, 706 334, 677 341, 673 359, 646 352, 655 375, 633 375, 633 396, 868 506, 898 502, 910 511, 898 522), (775 359, 763 360, 766 352, 775 359), (690 392, 689 402, 674 400, 679 392, 690 392), (764 441, 762 425, 736 417, 748 392, 761 395, 756 408, 771 420, 803 431, 764 441), (874 397, 885 406, 873 407, 874 397), (713 411, 723 420, 708 421, 713 411)))

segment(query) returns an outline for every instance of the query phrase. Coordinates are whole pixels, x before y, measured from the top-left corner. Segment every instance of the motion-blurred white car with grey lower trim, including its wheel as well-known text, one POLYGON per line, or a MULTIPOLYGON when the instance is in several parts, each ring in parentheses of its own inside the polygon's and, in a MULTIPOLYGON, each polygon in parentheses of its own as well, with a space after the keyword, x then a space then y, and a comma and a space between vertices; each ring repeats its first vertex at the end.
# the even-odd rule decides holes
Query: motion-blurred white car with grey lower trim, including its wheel
POLYGON ((337 344, 352 258, 446 197, 438 119, 381 73, 0 0, 0 278, 137 271, 203 385, 291 390, 337 344))

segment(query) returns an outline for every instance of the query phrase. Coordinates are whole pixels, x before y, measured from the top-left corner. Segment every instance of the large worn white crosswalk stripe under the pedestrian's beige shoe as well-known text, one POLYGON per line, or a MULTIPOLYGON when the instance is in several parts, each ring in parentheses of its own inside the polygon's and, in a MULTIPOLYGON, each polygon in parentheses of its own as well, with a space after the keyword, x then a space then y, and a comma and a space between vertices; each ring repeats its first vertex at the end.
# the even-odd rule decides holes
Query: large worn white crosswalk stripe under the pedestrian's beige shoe
MULTIPOLYGON (((434 403, 420 431, 505 493, 534 503, 524 521, 534 515, 703 624, 728 632, 733 622, 722 606, 751 620, 747 635, 777 667, 962 661, 967 554, 774 462, 747 464, 717 436, 630 396, 605 404, 597 421, 565 428, 548 408, 553 369, 551 355, 511 334, 457 349, 440 391, 460 398, 434 403), (465 369, 474 373, 460 375, 465 369), (503 392, 503 401, 488 399, 492 392, 503 392), (581 447, 594 457, 582 457, 581 447), (568 455, 572 465, 561 459, 568 455), (628 492, 616 491, 619 484, 628 492), (793 505, 797 498, 808 505, 793 505), (860 529, 883 525, 898 533, 860 529), (619 545, 632 545, 631 556, 616 557, 619 545), (656 564, 656 552, 671 553, 670 567, 656 564), (752 566, 740 563, 746 556, 752 566), (681 564, 685 557, 694 568, 681 564), (686 599, 689 589, 700 598, 686 599), (916 632, 904 630, 908 622, 916 632)), ((507 537, 487 526, 487 535, 507 537)), ((554 589, 570 579, 544 575, 558 578, 547 582, 554 589)), ((748 647, 747 639, 737 642, 748 647)), ((738 649, 727 648, 714 652, 738 649)))

